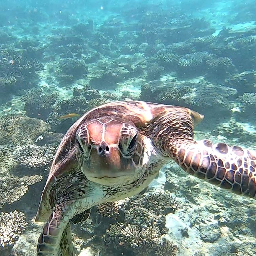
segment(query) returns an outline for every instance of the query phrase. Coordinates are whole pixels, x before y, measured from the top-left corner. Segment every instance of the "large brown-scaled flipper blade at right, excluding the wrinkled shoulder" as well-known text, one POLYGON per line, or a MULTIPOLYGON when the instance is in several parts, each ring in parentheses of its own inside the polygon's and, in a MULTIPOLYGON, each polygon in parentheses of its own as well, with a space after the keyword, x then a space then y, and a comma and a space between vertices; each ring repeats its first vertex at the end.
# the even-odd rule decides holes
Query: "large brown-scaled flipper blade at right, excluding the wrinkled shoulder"
POLYGON ((256 152, 209 140, 180 140, 170 156, 187 173, 239 195, 256 197, 256 152))

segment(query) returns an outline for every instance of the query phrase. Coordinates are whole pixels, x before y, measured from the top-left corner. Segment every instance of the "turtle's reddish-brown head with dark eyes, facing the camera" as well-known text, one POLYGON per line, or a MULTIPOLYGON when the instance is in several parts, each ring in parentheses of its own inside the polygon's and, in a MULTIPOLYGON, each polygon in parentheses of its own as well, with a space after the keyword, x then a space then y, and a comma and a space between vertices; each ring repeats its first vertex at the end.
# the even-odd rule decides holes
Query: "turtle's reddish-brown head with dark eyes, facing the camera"
POLYGON ((132 122, 95 119, 80 125, 76 139, 78 161, 89 180, 120 186, 140 178, 144 142, 132 122))

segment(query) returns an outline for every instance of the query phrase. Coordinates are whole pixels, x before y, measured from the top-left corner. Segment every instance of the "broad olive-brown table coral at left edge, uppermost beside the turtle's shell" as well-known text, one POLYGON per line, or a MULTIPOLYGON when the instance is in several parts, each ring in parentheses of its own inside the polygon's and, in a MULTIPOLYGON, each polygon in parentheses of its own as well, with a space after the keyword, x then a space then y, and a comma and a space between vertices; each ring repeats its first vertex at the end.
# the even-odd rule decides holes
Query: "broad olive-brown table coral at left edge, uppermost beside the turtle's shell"
POLYGON ((7 114, 0 118, 0 145, 33 144, 36 138, 50 130, 41 119, 7 114))

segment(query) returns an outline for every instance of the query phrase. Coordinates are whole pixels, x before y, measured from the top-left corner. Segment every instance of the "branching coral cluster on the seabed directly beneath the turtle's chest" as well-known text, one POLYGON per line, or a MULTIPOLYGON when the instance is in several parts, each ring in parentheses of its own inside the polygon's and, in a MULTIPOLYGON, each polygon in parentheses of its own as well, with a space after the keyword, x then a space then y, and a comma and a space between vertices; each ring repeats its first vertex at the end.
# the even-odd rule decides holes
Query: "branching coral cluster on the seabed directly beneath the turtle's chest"
POLYGON ((143 196, 107 202, 91 213, 91 222, 83 223, 83 232, 104 244, 101 252, 115 255, 175 255, 177 247, 162 238, 165 215, 174 213, 180 203, 168 192, 150 192, 143 196))

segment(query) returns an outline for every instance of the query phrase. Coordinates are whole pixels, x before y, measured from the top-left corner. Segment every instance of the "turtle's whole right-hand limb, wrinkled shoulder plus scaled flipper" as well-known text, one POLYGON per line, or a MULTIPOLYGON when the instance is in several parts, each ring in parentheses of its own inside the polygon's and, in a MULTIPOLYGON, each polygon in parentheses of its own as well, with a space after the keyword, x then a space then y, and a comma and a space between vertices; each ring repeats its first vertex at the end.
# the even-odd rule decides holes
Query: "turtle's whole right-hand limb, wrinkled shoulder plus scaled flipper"
POLYGON ((233 193, 256 197, 255 151, 225 143, 213 145, 209 140, 194 141, 189 115, 166 114, 158 123, 162 129, 155 143, 184 171, 233 193))

